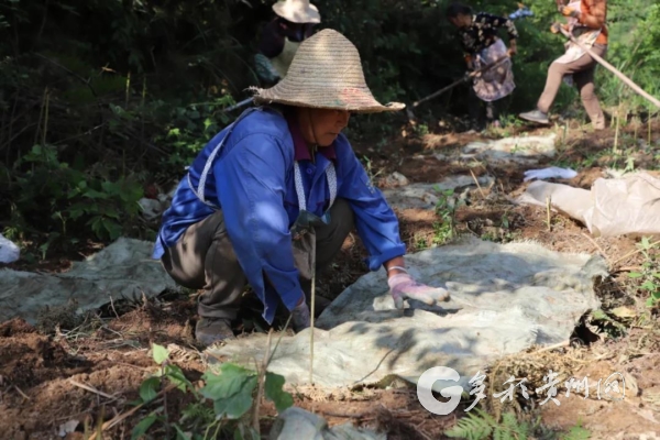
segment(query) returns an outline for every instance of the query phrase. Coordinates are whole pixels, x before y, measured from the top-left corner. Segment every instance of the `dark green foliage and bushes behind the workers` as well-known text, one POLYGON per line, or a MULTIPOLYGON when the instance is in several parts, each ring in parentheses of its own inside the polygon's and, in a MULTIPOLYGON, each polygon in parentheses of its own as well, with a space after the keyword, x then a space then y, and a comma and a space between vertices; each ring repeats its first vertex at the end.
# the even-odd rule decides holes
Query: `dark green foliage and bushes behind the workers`
MULTIPOLYGON (((382 102, 410 103, 464 73, 448 1, 317 0, 323 22, 359 48, 366 80, 382 102)), ((272 19, 264 0, 0 0, 0 222, 10 238, 53 243, 121 234, 153 238, 138 200, 169 185, 238 112, 227 106, 258 85, 252 56, 272 19), (250 3, 250 4, 248 4, 250 3), (146 231, 146 232, 145 232, 146 231), (75 233, 74 233, 75 232, 75 233), (146 235, 145 235, 146 233, 146 235)), ((509 0, 474 1, 508 14, 509 0)), ((549 64, 563 52, 549 32, 554 1, 534 0, 534 18, 516 21, 517 89, 512 113, 531 108, 549 64)), ((608 59, 660 95, 660 0, 610 0, 608 59)), ((506 35, 503 31, 503 37, 506 35)), ((605 69, 606 107, 647 103, 605 69)), ((466 112, 466 88, 420 107, 429 121, 466 112)), ((563 87, 553 111, 583 118, 563 87)), ((405 112, 361 116, 350 135, 382 142, 405 112)), ((429 124, 430 125, 430 124, 429 124)), ((151 227, 151 228, 150 228, 151 227)))

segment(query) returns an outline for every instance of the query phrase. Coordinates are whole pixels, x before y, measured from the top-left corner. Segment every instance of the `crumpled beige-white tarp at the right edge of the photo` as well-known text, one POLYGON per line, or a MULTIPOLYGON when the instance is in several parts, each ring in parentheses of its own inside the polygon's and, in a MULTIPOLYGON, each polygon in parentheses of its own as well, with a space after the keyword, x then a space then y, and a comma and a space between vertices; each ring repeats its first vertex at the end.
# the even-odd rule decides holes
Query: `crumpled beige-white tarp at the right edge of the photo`
POLYGON ((591 190, 535 182, 517 201, 544 207, 548 198, 594 237, 660 234, 660 179, 646 173, 600 178, 591 190))

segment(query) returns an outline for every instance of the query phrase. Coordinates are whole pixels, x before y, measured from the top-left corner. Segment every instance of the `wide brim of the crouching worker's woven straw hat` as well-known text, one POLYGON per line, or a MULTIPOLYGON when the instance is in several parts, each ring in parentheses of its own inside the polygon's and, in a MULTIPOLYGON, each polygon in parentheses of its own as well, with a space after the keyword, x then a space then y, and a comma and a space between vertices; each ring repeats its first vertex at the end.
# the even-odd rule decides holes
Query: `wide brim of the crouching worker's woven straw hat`
POLYGON ((369 91, 360 89, 309 94, 305 90, 283 90, 279 86, 282 86, 282 82, 270 89, 253 87, 252 90, 255 91, 253 96, 254 103, 283 103, 311 109, 345 110, 352 113, 381 113, 385 111, 399 111, 406 108, 406 105, 402 102, 382 105, 369 91), (332 96, 339 98, 329 98, 332 96))

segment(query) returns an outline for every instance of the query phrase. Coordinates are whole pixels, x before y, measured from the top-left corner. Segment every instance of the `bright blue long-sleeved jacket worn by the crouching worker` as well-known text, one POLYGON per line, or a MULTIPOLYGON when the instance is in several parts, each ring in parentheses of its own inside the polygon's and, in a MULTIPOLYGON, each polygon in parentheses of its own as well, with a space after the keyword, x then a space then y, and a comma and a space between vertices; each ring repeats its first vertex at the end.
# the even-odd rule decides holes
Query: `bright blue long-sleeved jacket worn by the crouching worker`
MULTIPOLYGON (((227 128, 199 153, 189 167, 191 184, 199 177, 213 147, 227 128)), ((355 229, 377 271, 383 263, 404 255, 398 221, 381 191, 373 187, 343 134, 334 142, 337 197, 353 209, 355 229)), ((294 264, 290 227, 298 217, 294 182, 294 141, 286 119, 270 108, 258 108, 240 121, 216 156, 206 182, 205 198, 224 213, 227 233, 239 264, 256 296, 264 304, 263 317, 273 322, 278 300, 292 310, 302 293, 294 264), (265 283, 264 274, 273 283, 265 283)), ((330 160, 316 153, 316 164, 299 161, 307 195, 307 210, 322 216, 330 193, 326 167, 330 160)), ((186 229, 213 213, 188 186, 179 183, 172 206, 163 213, 153 252, 161 258, 164 246, 174 245, 186 229)))

